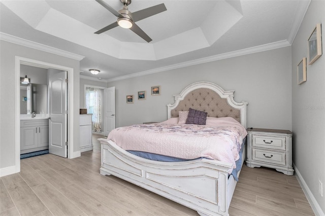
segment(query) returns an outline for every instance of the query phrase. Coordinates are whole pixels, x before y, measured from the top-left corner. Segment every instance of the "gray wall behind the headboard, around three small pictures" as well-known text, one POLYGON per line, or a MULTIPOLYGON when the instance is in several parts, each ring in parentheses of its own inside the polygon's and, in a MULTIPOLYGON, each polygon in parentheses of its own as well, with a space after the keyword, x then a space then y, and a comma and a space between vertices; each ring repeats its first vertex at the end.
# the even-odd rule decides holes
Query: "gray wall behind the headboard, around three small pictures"
POLYGON ((285 47, 108 83, 116 91, 116 127, 167 119, 167 104, 193 82, 209 81, 235 90, 248 102, 248 127, 291 130, 291 48, 285 47), (161 86, 151 96, 151 86, 161 86), (138 100, 138 91, 147 91, 138 100), (126 95, 135 96, 126 103, 126 95))

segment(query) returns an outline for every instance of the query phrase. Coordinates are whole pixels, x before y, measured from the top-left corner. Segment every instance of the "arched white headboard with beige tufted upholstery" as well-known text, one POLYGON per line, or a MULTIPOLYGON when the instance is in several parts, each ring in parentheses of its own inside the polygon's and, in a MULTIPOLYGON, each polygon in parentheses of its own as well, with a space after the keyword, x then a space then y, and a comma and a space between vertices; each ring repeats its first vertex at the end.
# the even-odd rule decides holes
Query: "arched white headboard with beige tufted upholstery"
POLYGON ((175 103, 168 105, 168 118, 178 117, 179 111, 192 108, 207 112, 209 117, 232 117, 246 128, 247 102, 235 102, 234 91, 224 91, 210 82, 198 82, 174 97, 175 103))

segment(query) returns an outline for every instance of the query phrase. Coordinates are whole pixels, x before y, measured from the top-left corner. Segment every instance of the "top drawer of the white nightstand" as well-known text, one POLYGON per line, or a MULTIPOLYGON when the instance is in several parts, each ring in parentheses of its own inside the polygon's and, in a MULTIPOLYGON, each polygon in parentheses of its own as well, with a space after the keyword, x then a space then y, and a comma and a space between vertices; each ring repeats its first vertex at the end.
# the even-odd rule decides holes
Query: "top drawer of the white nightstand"
POLYGON ((253 134, 252 135, 252 146, 268 148, 268 149, 285 150, 285 137, 253 134))

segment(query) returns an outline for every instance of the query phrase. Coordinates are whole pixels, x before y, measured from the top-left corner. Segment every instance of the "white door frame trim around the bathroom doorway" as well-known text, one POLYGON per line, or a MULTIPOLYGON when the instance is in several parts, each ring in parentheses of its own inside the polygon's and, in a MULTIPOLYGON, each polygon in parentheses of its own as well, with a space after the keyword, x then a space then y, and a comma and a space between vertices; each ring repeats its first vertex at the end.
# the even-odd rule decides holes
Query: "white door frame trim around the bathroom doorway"
POLYGON ((74 120, 74 69, 35 59, 15 56, 15 169, 20 172, 20 64, 29 66, 54 68, 68 71, 68 158, 74 158, 73 152, 73 120, 74 120))

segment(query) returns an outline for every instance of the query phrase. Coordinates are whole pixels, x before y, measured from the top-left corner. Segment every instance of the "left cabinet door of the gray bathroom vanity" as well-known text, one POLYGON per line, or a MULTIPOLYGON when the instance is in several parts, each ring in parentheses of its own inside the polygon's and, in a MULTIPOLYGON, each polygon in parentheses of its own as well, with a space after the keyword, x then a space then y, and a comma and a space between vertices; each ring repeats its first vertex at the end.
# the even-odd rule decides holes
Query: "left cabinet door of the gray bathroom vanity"
POLYGON ((38 129, 37 126, 20 128, 20 150, 38 147, 38 129))

